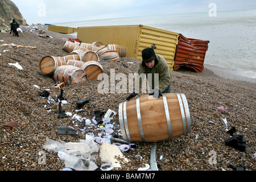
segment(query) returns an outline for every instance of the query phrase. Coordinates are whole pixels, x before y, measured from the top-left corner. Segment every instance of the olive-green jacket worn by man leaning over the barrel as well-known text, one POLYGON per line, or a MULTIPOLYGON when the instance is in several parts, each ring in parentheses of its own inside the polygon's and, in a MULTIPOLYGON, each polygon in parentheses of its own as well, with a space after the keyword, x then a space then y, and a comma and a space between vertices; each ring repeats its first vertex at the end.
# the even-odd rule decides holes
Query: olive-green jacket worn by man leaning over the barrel
POLYGON ((171 78, 172 78, 171 69, 168 67, 168 64, 166 63, 166 60, 164 59, 163 56, 156 54, 156 57, 158 57, 158 60, 155 60, 155 66, 152 69, 149 69, 146 66, 146 64, 143 63, 143 61, 139 63, 139 70, 137 75, 135 76, 135 86, 134 86, 135 93, 139 93, 138 89, 141 89, 142 79, 144 78, 143 73, 146 74, 147 76, 148 84, 152 86, 153 89, 159 89, 161 93, 164 92, 167 86, 170 85, 171 78), (148 75, 150 73, 152 74, 152 76, 148 75), (155 75, 156 73, 158 73, 159 75, 155 75), (138 87, 138 81, 136 80, 139 77, 142 77, 142 79, 139 79, 139 87, 138 87), (150 79, 151 77, 152 79, 150 79), (159 80, 158 80, 158 77, 159 77, 159 80), (155 85, 155 81, 156 81, 156 85, 155 85))

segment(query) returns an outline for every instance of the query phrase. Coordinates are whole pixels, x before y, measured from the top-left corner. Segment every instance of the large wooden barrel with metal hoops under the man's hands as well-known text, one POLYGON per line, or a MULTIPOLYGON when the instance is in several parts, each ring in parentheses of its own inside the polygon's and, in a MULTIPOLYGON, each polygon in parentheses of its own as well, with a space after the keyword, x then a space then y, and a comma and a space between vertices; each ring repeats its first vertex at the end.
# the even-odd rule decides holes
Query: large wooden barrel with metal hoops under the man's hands
POLYGON ((123 139, 160 142, 191 133, 191 118, 184 94, 142 96, 119 104, 123 139))

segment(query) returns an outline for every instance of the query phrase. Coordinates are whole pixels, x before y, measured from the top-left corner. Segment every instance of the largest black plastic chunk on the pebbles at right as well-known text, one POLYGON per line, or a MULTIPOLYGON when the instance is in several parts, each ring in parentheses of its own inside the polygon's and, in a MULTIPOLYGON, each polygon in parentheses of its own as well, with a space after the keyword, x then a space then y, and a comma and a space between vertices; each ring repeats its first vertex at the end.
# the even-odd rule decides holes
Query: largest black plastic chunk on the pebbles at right
POLYGON ((244 135, 238 134, 234 137, 225 139, 226 146, 230 146, 244 152, 246 150, 246 138, 244 135))

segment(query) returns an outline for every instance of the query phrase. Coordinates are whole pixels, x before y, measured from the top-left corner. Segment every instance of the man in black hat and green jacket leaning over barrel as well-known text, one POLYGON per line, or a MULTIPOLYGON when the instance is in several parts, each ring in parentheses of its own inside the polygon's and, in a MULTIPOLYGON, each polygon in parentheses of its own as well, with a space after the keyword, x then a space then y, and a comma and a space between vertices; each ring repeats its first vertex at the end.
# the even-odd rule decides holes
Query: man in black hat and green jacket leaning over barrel
MULTIPOLYGON (((142 51, 142 61, 139 63, 137 79, 143 73, 147 76, 150 88, 149 94, 153 95, 154 98, 162 97, 162 93, 171 93, 171 69, 168 67, 164 57, 156 54, 152 48, 146 48, 142 51)), ((135 79, 134 92, 126 98, 127 101, 139 93, 142 81, 139 79, 138 83, 137 79, 135 79)))

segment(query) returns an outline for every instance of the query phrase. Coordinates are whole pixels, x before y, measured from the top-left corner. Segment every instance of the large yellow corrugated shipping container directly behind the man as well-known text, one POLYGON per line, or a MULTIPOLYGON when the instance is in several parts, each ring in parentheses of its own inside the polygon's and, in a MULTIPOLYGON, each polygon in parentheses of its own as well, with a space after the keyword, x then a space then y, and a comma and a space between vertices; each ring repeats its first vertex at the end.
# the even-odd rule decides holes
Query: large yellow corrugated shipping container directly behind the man
POLYGON ((180 34, 144 25, 78 27, 77 39, 83 43, 101 42, 126 48, 126 57, 142 60, 142 50, 155 46, 174 70, 174 57, 180 34))

